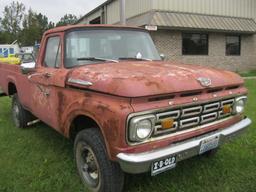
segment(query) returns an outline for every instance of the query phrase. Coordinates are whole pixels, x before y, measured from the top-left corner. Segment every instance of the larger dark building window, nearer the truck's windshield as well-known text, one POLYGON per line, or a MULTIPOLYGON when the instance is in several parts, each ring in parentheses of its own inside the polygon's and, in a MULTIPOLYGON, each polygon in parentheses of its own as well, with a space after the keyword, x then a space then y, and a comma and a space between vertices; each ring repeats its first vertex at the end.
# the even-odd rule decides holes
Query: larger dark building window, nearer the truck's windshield
POLYGON ((200 33, 183 33, 182 54, 208 55, 208 35, 200 33))

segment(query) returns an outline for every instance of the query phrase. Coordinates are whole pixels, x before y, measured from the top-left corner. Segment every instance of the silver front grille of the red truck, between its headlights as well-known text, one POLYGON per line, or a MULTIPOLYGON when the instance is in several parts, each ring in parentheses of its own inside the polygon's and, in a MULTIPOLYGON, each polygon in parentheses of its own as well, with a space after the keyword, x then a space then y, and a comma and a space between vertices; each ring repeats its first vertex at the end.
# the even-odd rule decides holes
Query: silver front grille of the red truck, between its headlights
POLYGON ((234 101, 234 98, 225 99, 157 113, 154 136, 175 133, 229 117, 232 115, 232 110, 224 114, 223 106, 229 105, 232 109, 234 101), (161 125, 161 122, 167 118, 174 119, 174 124, 171 129, 164 129, 161 125))

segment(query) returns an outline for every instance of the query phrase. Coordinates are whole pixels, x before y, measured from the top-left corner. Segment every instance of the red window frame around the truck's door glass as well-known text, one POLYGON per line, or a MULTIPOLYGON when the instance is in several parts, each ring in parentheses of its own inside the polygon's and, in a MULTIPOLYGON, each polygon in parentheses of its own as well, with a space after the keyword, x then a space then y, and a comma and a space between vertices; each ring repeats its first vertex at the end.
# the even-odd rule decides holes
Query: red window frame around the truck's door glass
POLYGON ((61 66, 62 66, 62 52, 63 52, 63 49, 62 49, 62 38, 61 38, 61 35, 56 34, 56 35, 48 36, 46 41, 45 41, 44 57, 43 57, 43 60, 42 60, 42 66, 45 67, 45 68, 51 68, 51 69, 59 69, 59 68, 61 68, 61 66), (47 45, 48 45, 49 39, 56 38, 56 37, 59 38, 59 47, 58 47, 58 52, 57 52, 57 55, 56 55, 56 58, 55 58, 55 66, 54 67, 50 67, 50 66, 45 65, 45 57, 46 57, 46 52, 47 52, 47 45), (58 58, 59 54, 60 54, 60 63, 57 66, 56 65, 57 64, 56 61, 58 60, 57 58, 58 58))

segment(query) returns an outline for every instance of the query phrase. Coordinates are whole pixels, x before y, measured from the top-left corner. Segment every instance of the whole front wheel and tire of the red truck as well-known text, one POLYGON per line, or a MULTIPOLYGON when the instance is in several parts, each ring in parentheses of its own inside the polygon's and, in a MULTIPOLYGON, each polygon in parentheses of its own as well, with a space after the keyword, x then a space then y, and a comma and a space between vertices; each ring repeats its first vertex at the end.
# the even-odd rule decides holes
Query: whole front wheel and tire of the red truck
POLYGON ((82 182, 93 192, 120 192, 124 173, 108 159, 100 131, 85 129, 78 133, 74 145, 77 169, 82 182))

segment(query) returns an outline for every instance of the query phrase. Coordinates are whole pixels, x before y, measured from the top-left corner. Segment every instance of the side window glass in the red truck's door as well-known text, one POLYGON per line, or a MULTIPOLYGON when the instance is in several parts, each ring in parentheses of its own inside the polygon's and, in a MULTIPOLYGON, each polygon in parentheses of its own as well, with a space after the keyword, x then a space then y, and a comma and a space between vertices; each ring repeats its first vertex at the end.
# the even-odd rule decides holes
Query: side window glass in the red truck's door
POLYGON ((60 37, 50 37, 47 41, 44 66, 58 68, 61 64, 60 37))

